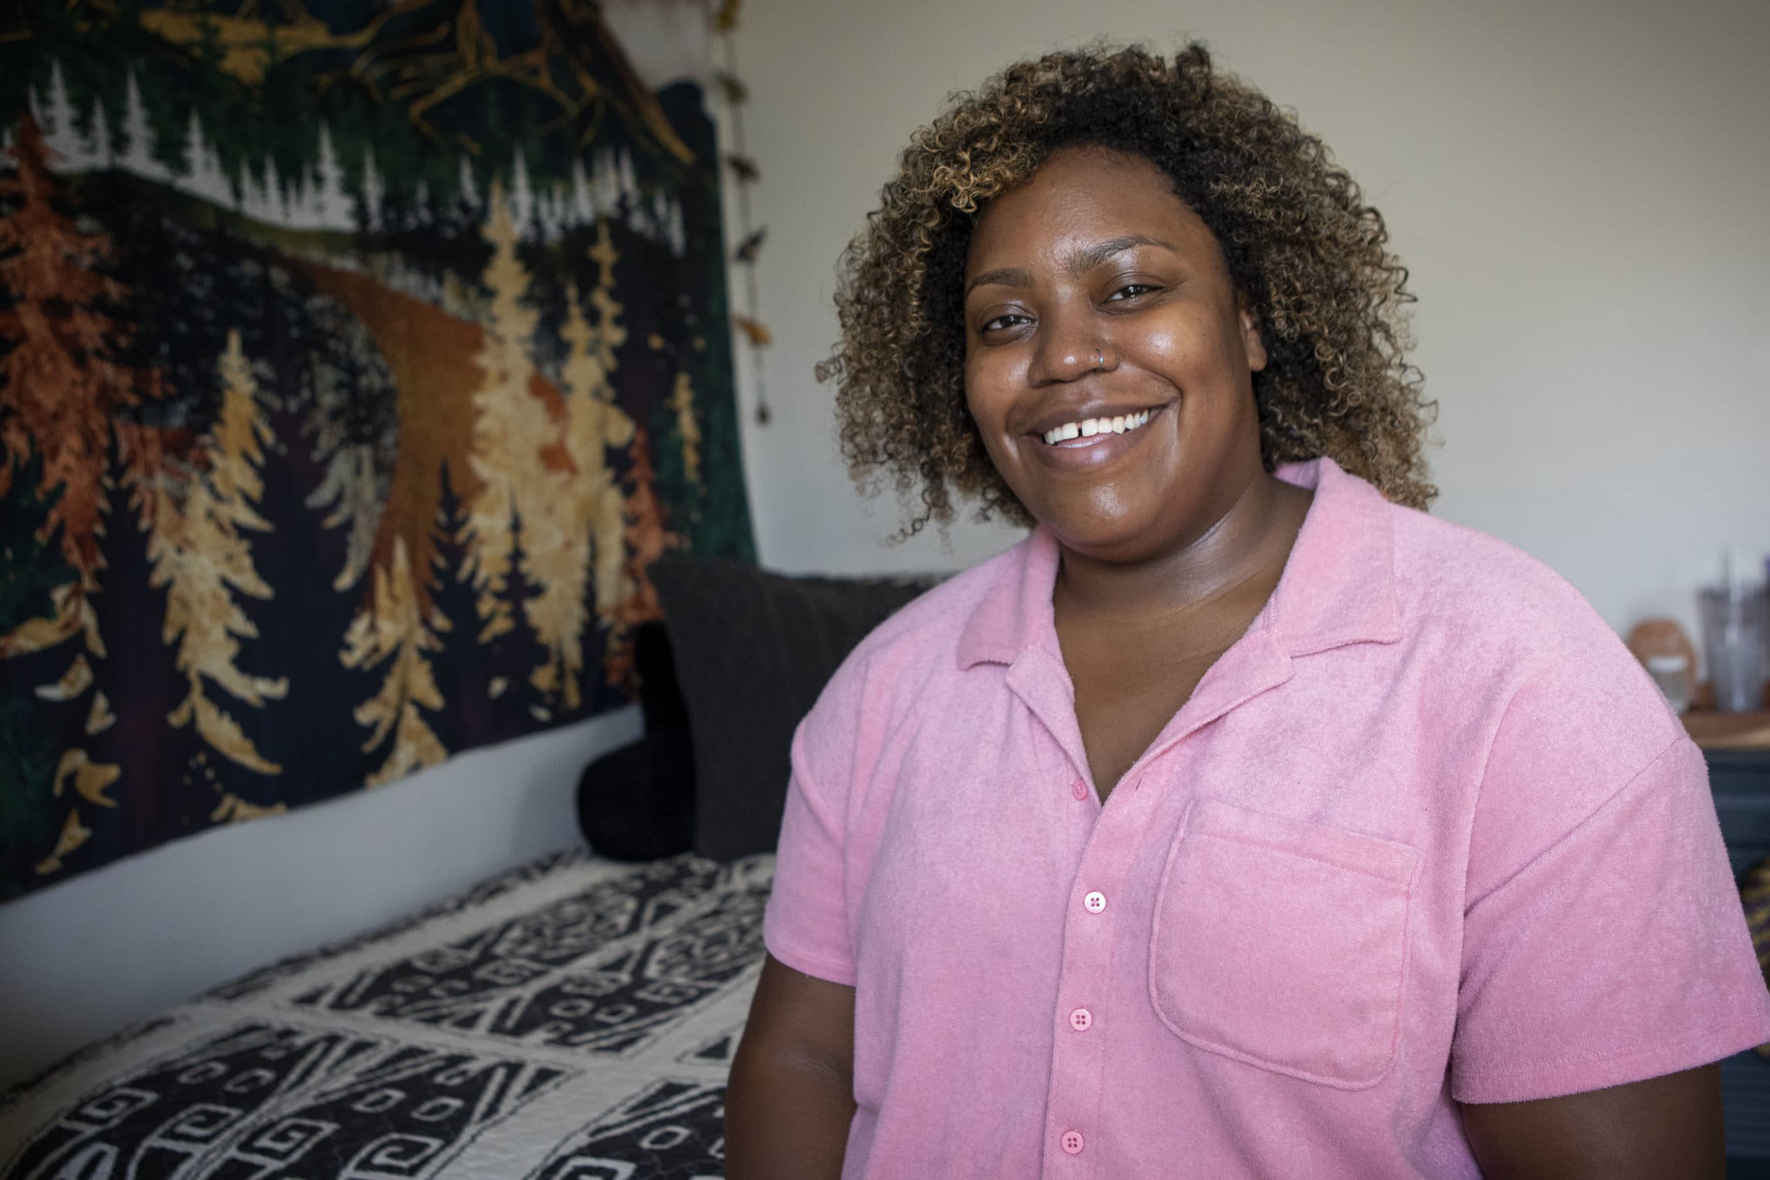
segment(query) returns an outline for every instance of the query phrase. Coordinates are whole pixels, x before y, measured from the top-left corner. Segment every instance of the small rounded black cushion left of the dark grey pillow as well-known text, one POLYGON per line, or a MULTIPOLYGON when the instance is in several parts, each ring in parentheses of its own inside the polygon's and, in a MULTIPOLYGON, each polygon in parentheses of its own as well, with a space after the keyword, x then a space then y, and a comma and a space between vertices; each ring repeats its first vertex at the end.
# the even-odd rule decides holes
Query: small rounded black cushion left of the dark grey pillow
POLYGON ((577 823, 614 860, 658 860, 694 842, 694 752, 685 729, 648 732, 584 768, 577 823))

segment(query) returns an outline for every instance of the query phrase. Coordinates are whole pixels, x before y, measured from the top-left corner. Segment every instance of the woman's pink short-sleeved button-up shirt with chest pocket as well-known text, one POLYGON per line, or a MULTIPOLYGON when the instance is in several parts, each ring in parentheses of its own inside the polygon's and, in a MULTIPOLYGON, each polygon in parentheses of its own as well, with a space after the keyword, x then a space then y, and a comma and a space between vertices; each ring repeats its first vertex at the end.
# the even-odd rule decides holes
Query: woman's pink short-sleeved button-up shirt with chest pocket
POLYGON ((1034 536, 793 741, 765 936, 855 987, 844 1176, 1476 1176, 1457 1102, 1770 1040, 1701 754, 1499 541, 1333 462, 1101 805, 1034 536))

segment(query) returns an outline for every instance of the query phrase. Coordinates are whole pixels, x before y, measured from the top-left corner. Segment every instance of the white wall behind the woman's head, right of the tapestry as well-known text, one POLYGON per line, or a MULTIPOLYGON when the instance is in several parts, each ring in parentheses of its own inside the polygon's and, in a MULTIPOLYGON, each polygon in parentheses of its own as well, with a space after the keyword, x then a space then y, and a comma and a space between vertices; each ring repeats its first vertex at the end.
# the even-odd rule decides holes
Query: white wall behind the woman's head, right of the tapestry
MULTIPOLYGON (((756 0, 738 64, 775 423, 745 416, 765 563, 965 564, 977 527, 887 550, 834 458, 835 257, 910 131, 1009 60, 1198 35, 1296 108, 1388 216, 1441 403, 1437 513, 1566 575, 1618 628, 1724 541, 1770 550, 1770 4, 1759 0, 756 0)), ((740 379, 747 372, 740 366, 740 379)))

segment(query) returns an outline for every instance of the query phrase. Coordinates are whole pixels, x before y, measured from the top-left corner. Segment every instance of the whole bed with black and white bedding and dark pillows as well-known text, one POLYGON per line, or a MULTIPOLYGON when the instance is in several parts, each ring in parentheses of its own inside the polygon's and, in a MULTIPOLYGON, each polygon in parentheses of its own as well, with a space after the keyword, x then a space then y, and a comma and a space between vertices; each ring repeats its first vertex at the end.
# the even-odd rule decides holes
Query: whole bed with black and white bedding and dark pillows
POLYGON ((669 628, 635 635, 644 736, 584 770, 588 849, 253 971, 12 1088, 0 1180, 722 1176, 793 727, 929 580, 701 557, 651 579, 669 628))

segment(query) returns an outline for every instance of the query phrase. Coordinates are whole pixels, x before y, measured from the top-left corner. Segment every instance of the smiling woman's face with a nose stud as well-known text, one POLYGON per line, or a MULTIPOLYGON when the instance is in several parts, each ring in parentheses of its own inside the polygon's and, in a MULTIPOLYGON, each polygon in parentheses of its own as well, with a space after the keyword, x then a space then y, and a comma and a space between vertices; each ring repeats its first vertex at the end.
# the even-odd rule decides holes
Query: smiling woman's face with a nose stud
POLYGON ((1149 161, 1053 154, 984 209, 965 283, 966 405, 1066 548, 1172 556, 1262 474, 1258 327, 1216 237, 1149 161))

